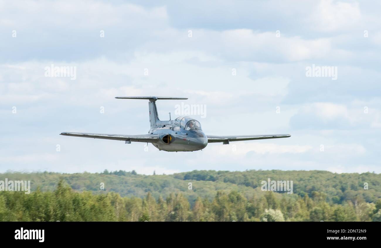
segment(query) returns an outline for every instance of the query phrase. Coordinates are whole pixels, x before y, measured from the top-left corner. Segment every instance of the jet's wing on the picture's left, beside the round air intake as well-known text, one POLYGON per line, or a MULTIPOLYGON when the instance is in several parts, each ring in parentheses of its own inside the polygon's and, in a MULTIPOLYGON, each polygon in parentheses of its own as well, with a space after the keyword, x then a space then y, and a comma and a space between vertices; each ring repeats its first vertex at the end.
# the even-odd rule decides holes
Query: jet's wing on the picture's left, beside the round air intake
POLYGON ((90 134, 90 133, 62 132, 60 135, 85 137, 85 138, 102 138, 106 140, 125 140, 126 143, 131 143, 131 141, 156 143, 159 140, 158 134, 123 135, 123 134, 90 134))

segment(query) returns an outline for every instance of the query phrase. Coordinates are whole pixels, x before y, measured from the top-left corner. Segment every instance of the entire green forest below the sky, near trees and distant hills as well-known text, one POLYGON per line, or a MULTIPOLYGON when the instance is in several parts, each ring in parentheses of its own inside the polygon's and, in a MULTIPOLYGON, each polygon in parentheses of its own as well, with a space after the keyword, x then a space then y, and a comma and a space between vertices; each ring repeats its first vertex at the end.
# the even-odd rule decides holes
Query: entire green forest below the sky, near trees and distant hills
POLYGON ((105 170, 3 178, 30 180, 32 192, 0 191, 0 221, 381 221, 376 173, 105 170), (267 178, 293 180, 293 194, 261 191, 267 178))

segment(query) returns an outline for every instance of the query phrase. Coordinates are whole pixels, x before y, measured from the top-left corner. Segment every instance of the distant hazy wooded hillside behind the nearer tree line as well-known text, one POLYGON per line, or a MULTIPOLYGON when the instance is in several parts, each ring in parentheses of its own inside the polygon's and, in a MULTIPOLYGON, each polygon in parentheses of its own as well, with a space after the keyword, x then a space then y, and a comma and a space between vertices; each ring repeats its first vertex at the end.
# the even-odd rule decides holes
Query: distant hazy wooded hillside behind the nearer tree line
MULTIPOLYGON (((293 194, 289 197, 312 196, 314 191, 325 193, 328 203, 341 204, 361 197, 365 202, 376 202, 381 198, 381 174, 375 173, 342 173, 327 171, 282 171, 282 170, 248 170, 229 172, 201 170, 176 173, 174 175, 138 175, 133 172, 74 173, 61 174, 53 172, 0 174, 0 180, 30 180, 31 190, 37 187, 41 191, 54 191, 59 180, 64 180, 75 191, 92 191, 94 194, 117 192, 122 197, 146 197, 150 192, 155 199, 168 197, 170 193, 182 192, 191 205, 197 197, 213 199, 217 191, 229 193, 237 191, 248 199, 253 194, 264 194, 261 181, 292 180, 293 194), (100 189, 104 183, 104 190, 100 189), (192 183, 192 189, 188 189, 192 183), (368 189, 364 189, 364 183, 368 189)), ((285 193, 275 194, 277 197, 285 193)))

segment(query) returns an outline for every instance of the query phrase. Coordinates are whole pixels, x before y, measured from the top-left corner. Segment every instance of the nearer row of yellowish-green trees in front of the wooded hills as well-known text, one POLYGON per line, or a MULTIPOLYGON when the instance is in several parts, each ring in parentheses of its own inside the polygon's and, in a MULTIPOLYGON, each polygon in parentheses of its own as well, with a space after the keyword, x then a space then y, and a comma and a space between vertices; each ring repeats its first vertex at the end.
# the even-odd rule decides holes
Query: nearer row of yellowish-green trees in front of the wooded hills
POLYGON ((335 204, 323 192, 275 194, 217 191, 212 200, 198 197, 191 207, 182 193, 165 199, 150 192, 143 198, 93 194, 61 180, 54 191, 0 192, 0 221, 381 221, 381 199, 369 203, 357 196, 335 204))

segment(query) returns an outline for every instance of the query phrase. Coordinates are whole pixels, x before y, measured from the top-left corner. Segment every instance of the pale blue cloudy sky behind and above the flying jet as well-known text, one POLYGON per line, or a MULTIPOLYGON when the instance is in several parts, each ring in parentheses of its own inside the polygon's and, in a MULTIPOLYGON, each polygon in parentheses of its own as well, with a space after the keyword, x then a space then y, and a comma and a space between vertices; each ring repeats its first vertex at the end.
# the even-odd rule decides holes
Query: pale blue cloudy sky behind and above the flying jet
POLYGON ((366 0, 0 1, 0 172, 381 173, 380 10, 366 0), (46 76, 52 64, 75 77, 46 76), (328 66, 335 77, 307 76, 328 66), (114 99, 139 95, 189 98, 159 100, 162 120, 181 102, 205 105, 193 117, 206 134, 292 137, 168 153, 59 135, 146 134, 148 101, 114 99))

